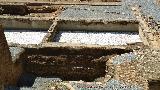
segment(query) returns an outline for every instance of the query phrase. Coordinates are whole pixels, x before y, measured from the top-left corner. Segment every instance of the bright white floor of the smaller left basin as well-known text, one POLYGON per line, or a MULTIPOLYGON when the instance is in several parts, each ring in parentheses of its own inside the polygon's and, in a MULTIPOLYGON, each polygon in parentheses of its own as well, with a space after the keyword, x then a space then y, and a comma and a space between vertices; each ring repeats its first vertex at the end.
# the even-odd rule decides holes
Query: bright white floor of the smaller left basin
POLYGON ((8 43, 18 44, 39 44, 47 32, 29 31, 29 30, 5 30, 5 36, 8 43))

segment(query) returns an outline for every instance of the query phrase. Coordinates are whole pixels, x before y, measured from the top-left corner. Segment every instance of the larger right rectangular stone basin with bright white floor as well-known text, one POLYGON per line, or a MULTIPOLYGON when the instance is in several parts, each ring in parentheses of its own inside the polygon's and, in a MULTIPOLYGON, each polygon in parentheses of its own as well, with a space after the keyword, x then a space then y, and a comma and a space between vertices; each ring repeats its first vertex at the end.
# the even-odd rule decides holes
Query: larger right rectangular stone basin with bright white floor
POLYGON ((87 45, 127 45, 142 42, 136 22, 59 21, 49 42, 87 45))

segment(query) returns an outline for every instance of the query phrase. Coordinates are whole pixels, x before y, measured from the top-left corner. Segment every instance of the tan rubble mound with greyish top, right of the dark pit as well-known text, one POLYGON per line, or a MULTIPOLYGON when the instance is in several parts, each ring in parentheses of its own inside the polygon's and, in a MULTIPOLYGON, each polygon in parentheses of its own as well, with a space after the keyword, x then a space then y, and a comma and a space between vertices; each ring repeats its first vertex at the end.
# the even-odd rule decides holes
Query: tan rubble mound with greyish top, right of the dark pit
MULTIPOLYGON (((140 62, 138 55, 134 53, 126 53, 111 58, 107 63, 110 67, 110 75, 124 82, 128 87, 135 85, 143 90, 148 89, 147 79, 143 77, 142 69, 139 68, 140 62), (112 71, 111 71, 112 70, 112 71)), ((141 90, 140 89, 140 90, 141 90)))

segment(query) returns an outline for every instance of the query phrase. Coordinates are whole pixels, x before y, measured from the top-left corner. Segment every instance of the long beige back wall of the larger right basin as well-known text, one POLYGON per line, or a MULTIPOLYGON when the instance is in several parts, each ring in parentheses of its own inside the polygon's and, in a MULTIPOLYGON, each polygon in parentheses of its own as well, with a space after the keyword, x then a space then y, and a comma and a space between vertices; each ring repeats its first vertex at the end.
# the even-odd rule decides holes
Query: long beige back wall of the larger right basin
POLYGON ((137 22, 92 22, 92 21, 58 21, 58 30, 84 31, 138 31, 137 22))

